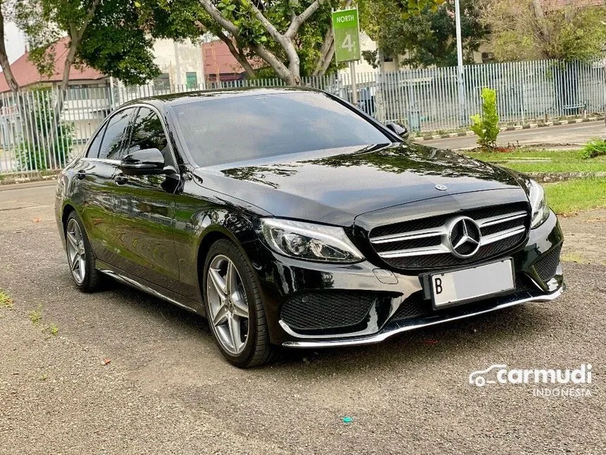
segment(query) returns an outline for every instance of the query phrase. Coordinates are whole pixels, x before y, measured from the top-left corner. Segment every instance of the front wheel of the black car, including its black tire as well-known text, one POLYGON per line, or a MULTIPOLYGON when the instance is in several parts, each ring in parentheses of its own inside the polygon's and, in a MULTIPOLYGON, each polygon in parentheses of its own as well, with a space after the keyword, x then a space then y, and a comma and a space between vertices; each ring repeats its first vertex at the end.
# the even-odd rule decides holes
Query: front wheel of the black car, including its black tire
POLYGON ((216 241, 206 255, 203 272, 206 318, 225 359, 239 368, 277 360, 280 348, 269 343, 259 284, 245 254, 227 239, 216 241), (230 264, 233 269, 228 275, 230 264))

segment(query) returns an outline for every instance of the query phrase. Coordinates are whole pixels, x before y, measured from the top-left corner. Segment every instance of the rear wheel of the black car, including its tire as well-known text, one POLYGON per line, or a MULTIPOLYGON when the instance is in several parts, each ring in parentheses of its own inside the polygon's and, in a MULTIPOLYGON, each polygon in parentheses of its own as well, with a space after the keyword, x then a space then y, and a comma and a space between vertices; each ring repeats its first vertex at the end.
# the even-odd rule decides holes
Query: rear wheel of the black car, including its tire
POLYGON ((99 271, 95 268, 96 257, 90 246, 84 224, 75 211, 68 216, 64 234, 68 267, 70 267, 74 284, 82 292, 96 291, 100 281, 99 271))

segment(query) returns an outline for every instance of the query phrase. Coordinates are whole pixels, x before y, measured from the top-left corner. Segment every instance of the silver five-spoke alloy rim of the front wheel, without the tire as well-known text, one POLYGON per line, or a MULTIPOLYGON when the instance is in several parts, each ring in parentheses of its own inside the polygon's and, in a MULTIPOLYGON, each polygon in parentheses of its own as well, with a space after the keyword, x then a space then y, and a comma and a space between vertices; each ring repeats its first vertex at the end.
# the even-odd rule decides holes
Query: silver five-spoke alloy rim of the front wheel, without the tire
POLYGON ((230 354, 244 351, 249 332, 249 309, 244 284, 234 263, 216 255, 206 277, 209 322, 221 346, 230 354))

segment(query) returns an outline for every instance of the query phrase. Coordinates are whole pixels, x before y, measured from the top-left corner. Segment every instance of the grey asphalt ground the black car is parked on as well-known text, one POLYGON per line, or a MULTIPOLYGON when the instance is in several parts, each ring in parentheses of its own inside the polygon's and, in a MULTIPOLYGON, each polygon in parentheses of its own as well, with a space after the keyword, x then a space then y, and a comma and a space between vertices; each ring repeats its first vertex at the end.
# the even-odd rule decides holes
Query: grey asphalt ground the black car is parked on
POLYGON ((604 453, 605 266, 566 264, 554 303, 242 371, 194 315, 118 284, 76 291, 53 192, 0 192, 0 287, 15 301, 0 308, 0 454, 604 453), (467 383, 494 363, 583 362, 592 396, 467 383))

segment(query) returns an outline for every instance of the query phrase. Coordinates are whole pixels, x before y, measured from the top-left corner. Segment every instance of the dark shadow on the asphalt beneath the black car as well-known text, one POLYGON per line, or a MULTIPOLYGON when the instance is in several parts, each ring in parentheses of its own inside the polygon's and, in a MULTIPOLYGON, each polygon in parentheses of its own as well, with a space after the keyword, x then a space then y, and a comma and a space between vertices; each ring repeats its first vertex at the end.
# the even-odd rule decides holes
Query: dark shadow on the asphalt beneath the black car
MULTIPOLYGON (((171 305, 142 291, 108 280, 104 293, 111 295, 113 305, 119 305, 132 317, 152 325, 152 331, 166 331, 173 338, 197 338, 206 348, 216 349, 214 337, 204 317, 171 305)), ((411 368, 427 360, 442 360, 460 356, 466 351, 498 352, 501 346, 514 341, 536 339, 550 330, 548 307, 538 304, 518 305, 494 313, 471 317, 468 320, 436 324, 390 337, 380 344, 345 348, 284 349, 278 363, 272 365, 272 374, 281 375, 296 370, 300 374, 350 374, 364 368, 411 368), (309 367, 312 368, 309 368, 309 367)), ((259 370, 259 369, 258 369, 259 370)), ((261 368, 261 370, 264 370, 261 368)))

